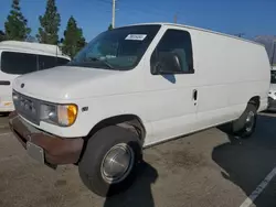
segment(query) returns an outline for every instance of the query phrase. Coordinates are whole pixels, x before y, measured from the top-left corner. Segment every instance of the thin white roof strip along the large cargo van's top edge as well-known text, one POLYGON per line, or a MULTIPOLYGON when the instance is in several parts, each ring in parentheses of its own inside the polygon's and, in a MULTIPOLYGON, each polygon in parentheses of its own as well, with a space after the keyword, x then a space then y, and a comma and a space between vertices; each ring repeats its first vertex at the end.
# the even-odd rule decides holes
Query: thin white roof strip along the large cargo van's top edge
MULTIPOLYGON (((150 24, 152 24, 152 25, 156 25, 156 24, 159 24, 159 25, 170 25, 170 26, 179 26, 179 28, 187 28, 187 29, 192 29, 192 30, 199 30, 199 31, 203 31, 203 32, 208 32, 208 33, 213 33, 213 34, 219 34, 219 35, 223 35, 223 36, 227 36, 227 37, 232 37, 232 39, 237 39, 237 40, 241 40, 241 41, 245 41, 245 42, 250 42, 250 43, 253 43, 253 44, 256 44, 256 45, 264 46, 263 44, 261 44, 258 42, 250 41, 250 40, 242 39, 242 37, 238 37, 238 36, 234 36, 234 35, 231 35, 231 34, 225 34, 225 33, 215 32, 215 31, 212 31, 212 30, 206 30, 206 29, 195 28, 195 26, 190 26, 190 25, 184 25, 184 24, 177 24, 177 23, 169 23, 169 22, 152 22, 152 23, 130 24, 130 25, 150 25, 150 24)), ((121 28, 124 28, 124 26, 121 26, 121 28)))

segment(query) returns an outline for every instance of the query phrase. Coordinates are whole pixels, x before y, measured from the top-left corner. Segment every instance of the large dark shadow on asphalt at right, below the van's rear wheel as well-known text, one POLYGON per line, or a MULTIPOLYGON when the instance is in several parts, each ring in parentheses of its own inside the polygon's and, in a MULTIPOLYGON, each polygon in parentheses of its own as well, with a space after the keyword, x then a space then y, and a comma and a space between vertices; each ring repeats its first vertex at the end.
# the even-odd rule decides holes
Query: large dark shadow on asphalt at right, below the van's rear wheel
MULTIPOLYGON (((276 166, 276 118, 261 115, 252 138, 229 135, 229 141, 213 149, 212 159, 224 170, 222 176, 250 196, 276 166)), ((276 200, 263 192, 254 204, 269 207, 276 206, 276 200)))

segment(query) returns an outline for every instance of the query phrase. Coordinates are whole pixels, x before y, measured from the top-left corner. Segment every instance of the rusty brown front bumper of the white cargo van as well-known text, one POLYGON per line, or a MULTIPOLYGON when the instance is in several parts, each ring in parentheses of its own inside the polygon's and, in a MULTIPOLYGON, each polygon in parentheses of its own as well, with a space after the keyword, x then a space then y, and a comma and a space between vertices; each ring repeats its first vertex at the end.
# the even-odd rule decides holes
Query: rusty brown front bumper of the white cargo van
POLYGON ((78 162, 83 139, 59 138, 43 132, 24 121, 13 111, 9 116, 9 124, 13 134, 26 149, 26 142, 31 142, 44 150, 45 164, 75 164, 78 162))

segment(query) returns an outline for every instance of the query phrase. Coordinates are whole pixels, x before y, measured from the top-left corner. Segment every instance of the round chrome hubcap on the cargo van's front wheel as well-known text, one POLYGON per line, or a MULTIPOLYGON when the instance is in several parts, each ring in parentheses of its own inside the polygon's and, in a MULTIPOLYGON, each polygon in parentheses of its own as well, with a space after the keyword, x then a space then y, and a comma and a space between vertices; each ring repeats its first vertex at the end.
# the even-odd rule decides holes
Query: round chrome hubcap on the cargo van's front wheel
POLYGON ((125 143, 116 144, 105 155, 100 173, 109 184, 125 179, 134 166, 134 151, 125 143))

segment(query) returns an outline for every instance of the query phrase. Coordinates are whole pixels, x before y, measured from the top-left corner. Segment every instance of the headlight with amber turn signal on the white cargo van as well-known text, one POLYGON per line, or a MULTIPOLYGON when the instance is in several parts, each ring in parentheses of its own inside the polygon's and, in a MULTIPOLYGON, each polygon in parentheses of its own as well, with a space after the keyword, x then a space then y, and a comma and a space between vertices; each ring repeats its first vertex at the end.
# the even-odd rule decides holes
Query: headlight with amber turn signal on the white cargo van
POLYGON ((62 127, 72 126, 77 116, 76 105, 41 105, 41 120, 62 127))

